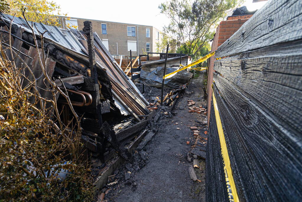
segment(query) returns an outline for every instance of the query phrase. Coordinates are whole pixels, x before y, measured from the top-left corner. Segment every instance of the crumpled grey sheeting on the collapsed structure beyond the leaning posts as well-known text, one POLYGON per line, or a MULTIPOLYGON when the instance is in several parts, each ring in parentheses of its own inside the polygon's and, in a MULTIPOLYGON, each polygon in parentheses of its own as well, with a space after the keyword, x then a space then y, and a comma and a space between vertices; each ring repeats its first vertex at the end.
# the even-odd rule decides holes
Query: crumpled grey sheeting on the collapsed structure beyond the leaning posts
MULTIPOLYGON (((174 72, 175 70, 177 70, 177 68, 167 67, 166 74, 174 72)), ((146 80, 153 80, 153 81, 162 83, 163 73, 164 73, 164 67, 156 67, 156 69, 153 70, 152 72, 145 71, 142 68, 142 70, 140 71, 140 77, 143 79, 146 79, 146 80)), ((192 73, 189 73, 184 70, 180 71, 180 72, 176 73, 173 77, 171 77, 169 79, 165 79, 165 85, 169 86, 169 87, 181 86, 185 83, 188 83, 191 76, 192 76, 192 73)))

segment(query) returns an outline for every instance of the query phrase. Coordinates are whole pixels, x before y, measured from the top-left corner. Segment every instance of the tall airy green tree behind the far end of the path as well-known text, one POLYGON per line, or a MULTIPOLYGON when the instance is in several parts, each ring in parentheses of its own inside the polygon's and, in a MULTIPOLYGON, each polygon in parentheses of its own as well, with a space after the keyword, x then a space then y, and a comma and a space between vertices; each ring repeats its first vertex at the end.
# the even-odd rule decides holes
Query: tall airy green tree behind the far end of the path
POLYGON ((169 19, 164 32, 195 55, 214 36, 214 28, 243 0, 171 0, 159 5, 169 19))

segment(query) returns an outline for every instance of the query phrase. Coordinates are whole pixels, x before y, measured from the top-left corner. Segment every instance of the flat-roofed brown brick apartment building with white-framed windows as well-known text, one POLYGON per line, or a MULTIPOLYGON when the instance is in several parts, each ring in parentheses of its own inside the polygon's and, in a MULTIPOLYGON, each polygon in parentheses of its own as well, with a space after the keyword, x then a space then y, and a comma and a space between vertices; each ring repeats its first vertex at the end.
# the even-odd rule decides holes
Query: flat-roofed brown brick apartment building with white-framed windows
POLYGON ((62 28, 69 24, 78 26, 79 30, 82 30, 86 20, 92 21, 93 30, 116 58, 130 56, 130 50, 134 58, 146 52, 157 52, 156 43, 161 42, 163 37, 159 29, 148 25, 60 17, 62 28))

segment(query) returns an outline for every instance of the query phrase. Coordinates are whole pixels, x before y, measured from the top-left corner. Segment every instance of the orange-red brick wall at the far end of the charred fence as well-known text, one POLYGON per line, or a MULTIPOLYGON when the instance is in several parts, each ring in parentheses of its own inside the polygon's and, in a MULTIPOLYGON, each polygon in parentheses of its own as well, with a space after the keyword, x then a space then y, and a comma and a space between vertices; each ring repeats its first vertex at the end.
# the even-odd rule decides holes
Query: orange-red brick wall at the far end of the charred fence
MULTIPOLYGON (((249 18, 252 17, 253 14, 248 15, 235 15, 228 16, 226 21, 221 21, 217 26, 216 33, 214 35, 212 41, 211 52, 217 50, 217 48, 223 44, 230 36, 232 36, 249 18)), ((208 70, 208 84, 207 84, 207 92, 208 92, 208 120, 210 118, 210 104, 212 100, 212 83, 213 83, 213 68, 215 55, 210 57, 209 70, 208 70)))

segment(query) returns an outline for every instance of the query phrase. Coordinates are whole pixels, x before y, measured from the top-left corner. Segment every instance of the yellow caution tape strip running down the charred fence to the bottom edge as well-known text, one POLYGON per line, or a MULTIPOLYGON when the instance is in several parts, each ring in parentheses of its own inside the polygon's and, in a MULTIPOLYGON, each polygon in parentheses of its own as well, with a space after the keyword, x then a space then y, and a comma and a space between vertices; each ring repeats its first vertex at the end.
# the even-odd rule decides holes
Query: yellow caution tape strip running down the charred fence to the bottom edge
POLYGON ((217 107, 217 103, 216 103, 216 98, 214 95, 213 84, 212 84, 212 90, 213 90, 213 105, 214 105, 216 124, 217 124, 217 129, 218 129, 219 140, 220 140, 221 155, 222 155, 222 159, 223 159, 223 169, 224 169, 224 175, 225 175, 225 179, 226 179, 227 193, 228 193, 230 202, 237 202, 237 201, 239 202, 235 182, 234 182, 233 175, 232 175, 230 158, 229 158, 229 154, 228 154, 228 151, 226 148, 226 140, 224 138, 222 124, 221 124, 218 107, 217 107))

